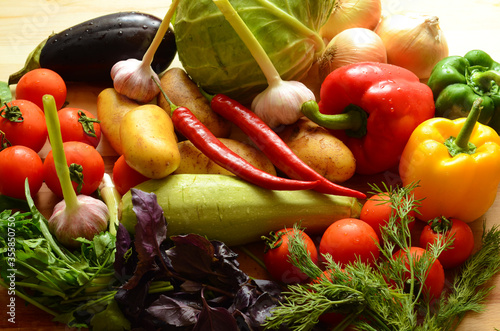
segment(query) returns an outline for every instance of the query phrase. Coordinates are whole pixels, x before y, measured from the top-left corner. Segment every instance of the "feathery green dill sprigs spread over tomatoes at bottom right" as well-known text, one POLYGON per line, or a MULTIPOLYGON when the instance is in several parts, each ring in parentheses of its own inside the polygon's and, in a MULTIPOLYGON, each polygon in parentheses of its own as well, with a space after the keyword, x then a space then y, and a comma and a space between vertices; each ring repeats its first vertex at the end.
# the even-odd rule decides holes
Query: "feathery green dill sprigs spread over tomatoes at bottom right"
POLYGON ((456 272, 441 297, 431 300, 421 284, 453 239, 447 243, 438 240, 419 259, 409 253, 412 234, 408 224, 414 221, 410 215, 418 213, 420 204, 413 197, 414 188, 384 187, 382 191, 372 186, 374 194, 387 192, 389 201, 381 203, 390 202, 394 210, 381 230, 381 258, 372 266, 356 261, 342 268, 326 255, 324 271, 311 261, 300 237, 293 238, 290 260, 313 281, 288 286, 285 299, 266 320, 266 329, 286 325, 291 330, 313 330, 320 316, 337 313, 344 317, 333 330, 445 331, 455 330, 468 311, 481 311, 492 289, 485 284, 500 270, 500 230, 497 226, 483 228, 481 248, 456 272), (405 254, 395 258, 398 250, 405 254))

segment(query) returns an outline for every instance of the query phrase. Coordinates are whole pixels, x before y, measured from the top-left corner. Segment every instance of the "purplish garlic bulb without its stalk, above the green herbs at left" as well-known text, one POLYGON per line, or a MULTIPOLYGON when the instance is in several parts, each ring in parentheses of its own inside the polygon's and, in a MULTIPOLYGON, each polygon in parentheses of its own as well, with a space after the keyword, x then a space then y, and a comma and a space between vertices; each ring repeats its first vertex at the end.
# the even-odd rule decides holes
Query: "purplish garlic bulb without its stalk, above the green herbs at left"
POLYGON ((78 195, 77 199, 78 204, 72 210, 66 208, 65 200, 57 203, 48 221, 50 232, 67 248, 81 246, 73 238, 92 240, 108 227, 109 211, 104 202, 87 195, 78 195))

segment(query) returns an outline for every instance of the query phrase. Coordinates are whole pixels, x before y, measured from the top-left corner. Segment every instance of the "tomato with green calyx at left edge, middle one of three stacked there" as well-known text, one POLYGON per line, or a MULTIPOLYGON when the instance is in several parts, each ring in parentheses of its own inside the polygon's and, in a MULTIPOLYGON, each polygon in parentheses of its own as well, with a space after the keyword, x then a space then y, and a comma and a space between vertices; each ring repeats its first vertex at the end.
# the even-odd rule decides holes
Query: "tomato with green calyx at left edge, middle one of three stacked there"
POLYGON ((13 100, 0 109, 0 114, 0 131, 10 145, 26 146, 37 153, 42 149, 48 133, 40 107, 28 100, 13 100))

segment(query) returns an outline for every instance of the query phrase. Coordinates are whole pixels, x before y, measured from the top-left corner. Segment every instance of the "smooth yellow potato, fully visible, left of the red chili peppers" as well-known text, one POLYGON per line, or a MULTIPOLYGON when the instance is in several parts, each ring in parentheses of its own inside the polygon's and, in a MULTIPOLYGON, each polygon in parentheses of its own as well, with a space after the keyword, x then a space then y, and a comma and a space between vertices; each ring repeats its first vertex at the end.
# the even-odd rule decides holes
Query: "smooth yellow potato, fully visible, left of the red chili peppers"
POLYGON ((120 140, 127 164, 148 178, 166 177, 179 166, 174 125, 157 105, 142 105, 125 114, 120 140))

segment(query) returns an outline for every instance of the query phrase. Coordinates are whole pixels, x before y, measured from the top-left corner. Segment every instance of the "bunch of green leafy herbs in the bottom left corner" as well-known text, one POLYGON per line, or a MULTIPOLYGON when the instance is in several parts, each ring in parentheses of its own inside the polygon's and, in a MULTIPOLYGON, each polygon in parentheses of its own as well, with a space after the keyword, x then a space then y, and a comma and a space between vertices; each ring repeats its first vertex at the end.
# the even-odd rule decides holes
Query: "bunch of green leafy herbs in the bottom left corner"
POLYGON ((0 286, 68 326, 95 326, 119 316, 115 236, 104 231, 93 240, 79 238, 79 250, 66 249, 26 190, 29 211, 0 210, 0 286))

